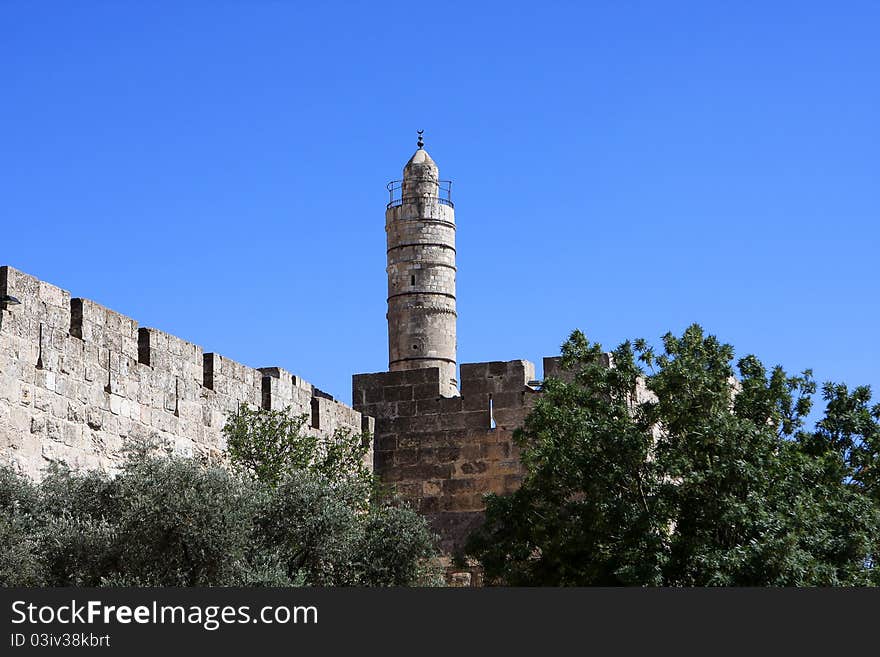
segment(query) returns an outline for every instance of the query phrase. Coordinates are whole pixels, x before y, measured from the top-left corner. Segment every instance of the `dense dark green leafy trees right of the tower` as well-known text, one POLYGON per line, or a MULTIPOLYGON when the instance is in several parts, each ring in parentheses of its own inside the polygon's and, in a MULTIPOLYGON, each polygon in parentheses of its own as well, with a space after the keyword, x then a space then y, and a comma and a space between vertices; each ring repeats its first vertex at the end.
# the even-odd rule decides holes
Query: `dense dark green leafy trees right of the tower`
POLYGON ((877 583, 880 405, 809 371, 768 372, 691 326, 607 366, 574 332, 516 434, 527 476, 469 541, 512 585, 877 583))

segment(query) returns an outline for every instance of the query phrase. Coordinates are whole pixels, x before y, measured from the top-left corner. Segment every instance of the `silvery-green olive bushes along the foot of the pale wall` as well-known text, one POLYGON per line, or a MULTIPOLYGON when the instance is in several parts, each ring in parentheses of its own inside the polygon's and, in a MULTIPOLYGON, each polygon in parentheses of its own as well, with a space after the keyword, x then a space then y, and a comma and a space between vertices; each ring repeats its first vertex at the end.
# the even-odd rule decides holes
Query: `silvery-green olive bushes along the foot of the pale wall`
POLYGON ((144 451, 115 477, 56 467, 35 484, 0 469, 0 584, 425 583, 435 555, 424 520, 372 492, 310 469, 271 486, 144 451))

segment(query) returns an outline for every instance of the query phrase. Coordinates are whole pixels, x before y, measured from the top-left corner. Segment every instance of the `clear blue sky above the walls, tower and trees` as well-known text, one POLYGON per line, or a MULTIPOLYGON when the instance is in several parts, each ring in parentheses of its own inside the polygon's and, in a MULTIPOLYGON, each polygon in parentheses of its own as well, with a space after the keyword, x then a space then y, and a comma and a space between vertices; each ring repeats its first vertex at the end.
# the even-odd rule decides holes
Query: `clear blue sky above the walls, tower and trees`
POLYGON ((880 390, 876 2, 0 3, 0 264, 350 399, 385 183, 455 181, 459 361, 700 322, 880 390))

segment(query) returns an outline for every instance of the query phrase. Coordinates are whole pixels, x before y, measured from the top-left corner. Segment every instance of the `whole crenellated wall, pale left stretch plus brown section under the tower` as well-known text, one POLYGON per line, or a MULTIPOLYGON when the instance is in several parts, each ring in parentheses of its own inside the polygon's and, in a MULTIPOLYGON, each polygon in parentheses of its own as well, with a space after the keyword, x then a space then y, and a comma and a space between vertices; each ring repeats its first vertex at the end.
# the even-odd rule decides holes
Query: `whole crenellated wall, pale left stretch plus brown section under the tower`
MULTIPOLYGON (((0 311, 0 463, 34 478, 52 461, 113 471, 131 440, 219 457, 226 415, 246 403, 305 413, 314 433, 373 434, 368 462, 427 516, 447 555, 482 522, 487 493, 522 481, 513 432, 540 395, 528 361, 462 364, 454 395, 439 367, 358 374, 351 408, 280 367, 203 353, 0 267, 7 294, 21 305, 0 311)), ((544 359, 545 377, 561 375, 557 361, 544 359)))

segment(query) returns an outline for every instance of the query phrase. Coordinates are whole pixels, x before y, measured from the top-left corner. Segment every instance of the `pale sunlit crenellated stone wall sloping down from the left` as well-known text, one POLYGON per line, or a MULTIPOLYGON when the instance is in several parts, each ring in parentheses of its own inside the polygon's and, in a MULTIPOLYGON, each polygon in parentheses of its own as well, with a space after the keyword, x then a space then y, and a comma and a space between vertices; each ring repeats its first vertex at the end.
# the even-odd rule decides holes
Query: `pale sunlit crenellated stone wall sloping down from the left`
POLYGON ((309 416, 309 431, 372 430, 369 418, 281 368, 254 369, 11 267, 0 295, 0 463, 39 478, 51 461, 115 470, 129 441, 219 456, 239 404, 309 416))

